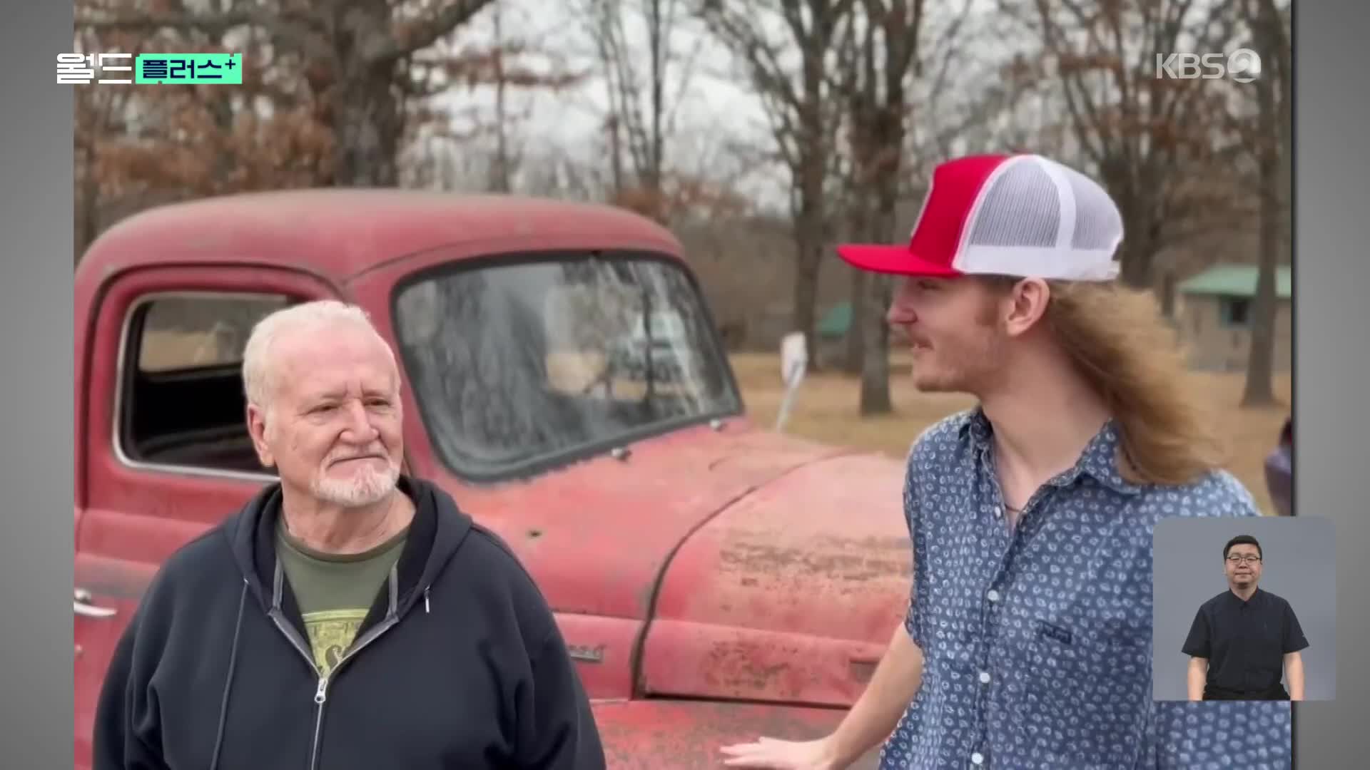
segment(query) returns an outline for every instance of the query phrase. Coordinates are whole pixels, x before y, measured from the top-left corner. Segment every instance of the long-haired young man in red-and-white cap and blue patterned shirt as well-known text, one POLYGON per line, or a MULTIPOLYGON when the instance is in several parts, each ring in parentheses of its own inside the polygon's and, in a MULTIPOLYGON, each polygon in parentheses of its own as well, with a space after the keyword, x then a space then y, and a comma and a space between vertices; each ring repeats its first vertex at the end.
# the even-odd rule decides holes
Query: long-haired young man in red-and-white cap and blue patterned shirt
POLYGON ((1156 704, 1151 534, 1258 515, 1219 469, 1169 327, 1115 285, 1122 218, 1040 156, 940 166, 907 247, 848 245, 901 277, 889 322, 923 392, 980 406, 914 444, 910 610, 843 723, 726 747, 736 767, 1281 769, 1282 704, 1156 704))

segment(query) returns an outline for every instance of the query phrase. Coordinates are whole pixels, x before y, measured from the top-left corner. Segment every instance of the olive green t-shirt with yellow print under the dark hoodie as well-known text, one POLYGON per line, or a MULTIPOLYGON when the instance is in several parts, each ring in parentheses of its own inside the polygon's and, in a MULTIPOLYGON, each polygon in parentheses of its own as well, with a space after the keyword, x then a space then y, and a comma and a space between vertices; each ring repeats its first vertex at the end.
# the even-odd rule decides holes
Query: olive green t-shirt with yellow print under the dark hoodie
POLYGON ((363 554, 322 554, 277 527, 277 554, 300 604, 319 673, 327 675, 347 652, 375 595, 400 558, 408 530, 363 554))

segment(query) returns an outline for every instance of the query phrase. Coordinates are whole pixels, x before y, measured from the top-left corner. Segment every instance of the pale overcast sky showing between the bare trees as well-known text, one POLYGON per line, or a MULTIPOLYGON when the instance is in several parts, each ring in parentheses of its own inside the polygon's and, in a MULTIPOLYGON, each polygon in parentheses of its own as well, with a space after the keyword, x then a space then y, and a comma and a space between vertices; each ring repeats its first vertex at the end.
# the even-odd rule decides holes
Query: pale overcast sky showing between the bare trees
MULTIPOLYGON (((459 34, 453 36, 453 45, 481 45, 493 40, 496 11, 500 15, 506 38, 523 41, 529 48, 541 51, 545 56, 534 56, 527 62, 540 64, 552 71, 588 71, 590 77, 580 85, 560 93, 543 90, 511 90, 507 96, 508 110, 523 115, 518 126, 511 132, 514 144, 522 145, 533 155, 538 148, 553 149, 580 160, 586 166, 606 169, 604 162, 604 133, 601 130, 608 108, 606 84, 597 77, 600 64, 595 53, 595 38, 589 29, 586 5, 593 0, 499 0, 481 11, 459 34)), ((923 77, 915 82, 911 96, 910 121, 912 132, 945 132, 948 126, 964 122, 970 104, 981 99, 986 89, 997 84, 996 67, 1008 60, 1015 52, 1036 49, 1040 41, 1033 40, 1032 32, 1023 29, 1021 22, 1015 22, 1010 14, 1000 10, 1001 0, 937 0, 926 4, 929 18, 925 21, 925 32, 921 38, 921 48, 926 70, 923 77), (967 12, 969 8, 969 12, 967 12), (947 30, 954 19, 964 16, 964 23, 955 37, 955 42, 947 42, 947 30), (930 82, 941 69, 944 52, 955 49, 958 52, 945 73, 945 86, 932 97, 927 92, 930 82)), ((1206 5, 1211 0, 1199 0, 1191 8, 1191 22, 1203 18, 1206 5)), ((627 10, 626 29, 630 36, 630 47, 638 53, 638 75, 647 77, 648 49, 645 25, 640 10, 647 5, 644 0, 619 0, 627 10)), ((666 86, 667 108, 674 107, 674 132, 667 137, 666 156, 667 166, 686 173, 710 170, 726 174, 726 169, 718 164, 734 162, 723 148, 730 142, 744 142, 751 147, 774 147, 770 138, 770 126, 760 101, 751 93, 745 73, 737 66, 726 48, 712 36, 703 30, 703 23, 692 18, 685 10, 695 5, 695 0, 663 0, 664 7, 677 7, 681 18, 678 29, 674 32, 671 48, 678 60, 690 59, 689 82, 682 89, 680 64, 670 69, 671 82, 666 86), (677 100, 677 95, 681 99, 677 100)), ((766 5, 766 3, 758 3, 766 5)), ((1026 7, 1032 14, 1033 10, 1026 7)), ((758 25, 769 27, 773 40, 785 40, 786 34, 780 26, 782 22, 774 15, 760 15, 758 25)), ((793 51, 790 62, 797 56, 793 51)), ((1141 52, 1138 52, 1140 55, 1141 52)), ((797 67, 796 67, 797 69, 797 67)), ((495 114, 493 88, 460 88, 447 95, 443 104, 453 115, 453 123, 460 127, 470 125, 469 116, 474 112, 481 119, 489 122, 495 114)), ((964 152, 980 149, 981 144, 992 144, 991 137, 1001 137, 1001 132, 1018 133, 1021 137, 1030 137, 1034 127, 1043 121, 1059 118, 1059 107, 1052 107, 1047 101, 1036 100, 1025 103, 1012 114, 999 112, 986 115, 973 126, 973 132, 963 141, 945 148, 948 152, 964 152), (1054 118, 1055 115, 1055 118, 1054 118), (1012 129, 1017 129, 1014 132, 1012 129)), ((493 147, 490 142, 488 147, 493 147)), ((470 144, 462 145, 463 152, 475 149, 470 144)), ((1049 151, 1048 151, 1049 152, 1049 151)), ((744 195, 762 199, 767 207, 785 207, 786 175, 778 167, 770 167, 764 174, 752 175, 743 184, 744 195)))

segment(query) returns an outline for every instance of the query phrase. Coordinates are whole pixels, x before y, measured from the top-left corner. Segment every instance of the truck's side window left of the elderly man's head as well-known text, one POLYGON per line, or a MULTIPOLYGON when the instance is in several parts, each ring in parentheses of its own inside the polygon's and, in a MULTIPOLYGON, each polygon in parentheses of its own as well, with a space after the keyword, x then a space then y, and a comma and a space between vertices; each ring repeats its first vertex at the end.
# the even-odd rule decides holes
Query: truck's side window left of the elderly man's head
POLYGON ((119 362, 121 456, 133 464, 267 474, 252 449, 242 348, 279 295, 151 295, 132 310, 119 362))

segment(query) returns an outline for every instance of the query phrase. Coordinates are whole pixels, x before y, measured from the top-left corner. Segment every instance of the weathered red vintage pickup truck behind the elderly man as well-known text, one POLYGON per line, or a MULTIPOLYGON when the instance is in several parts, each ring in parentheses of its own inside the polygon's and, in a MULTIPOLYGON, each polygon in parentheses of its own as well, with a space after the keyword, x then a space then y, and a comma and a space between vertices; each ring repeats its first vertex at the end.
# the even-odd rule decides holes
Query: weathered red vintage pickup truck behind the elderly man
POLYGON ((252 193, 132 216, 75 274, 78 767, 153 573, 271 480, 247 332, 321 297, 395 347, 408 470, 529 567, 611 767, 717 767, 859 696, 908 601, 903 463, 751 425, 670 232, 507 196, 252 193))

